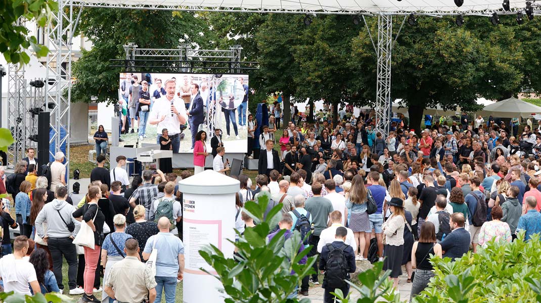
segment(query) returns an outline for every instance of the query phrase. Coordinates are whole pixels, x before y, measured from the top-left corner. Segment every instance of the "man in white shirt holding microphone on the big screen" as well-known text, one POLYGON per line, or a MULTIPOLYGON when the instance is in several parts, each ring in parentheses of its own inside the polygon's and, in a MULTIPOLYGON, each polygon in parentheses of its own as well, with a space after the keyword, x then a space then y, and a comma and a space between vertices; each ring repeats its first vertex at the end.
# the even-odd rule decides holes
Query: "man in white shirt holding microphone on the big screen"
POLYGON ((188 115, 186 115, 184 101, 176 96, 175 86, 175 80, 169 79, 166 81, 166 95, 156 99, 148 123, 157 124, 157 144, 160 144, 162 130, 167 129, 173 145, 173 152, 178 153, 180 149, 180 125, 186 124, 188 115))

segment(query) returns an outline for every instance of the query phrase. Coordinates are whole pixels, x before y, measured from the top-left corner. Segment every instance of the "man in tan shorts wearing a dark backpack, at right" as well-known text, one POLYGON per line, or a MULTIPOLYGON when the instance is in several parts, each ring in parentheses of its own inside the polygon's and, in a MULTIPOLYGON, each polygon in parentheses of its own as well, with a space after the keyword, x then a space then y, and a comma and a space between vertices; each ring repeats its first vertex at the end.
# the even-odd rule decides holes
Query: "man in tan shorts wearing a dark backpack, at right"
POLYGON ((488 207, 486 205, 485 194, 479 190, 479 185, 481 185, 481 180, 478 177, 471 178, 470 187, 472 191, 464 198, 469 209, 468 220, 470 223, 473 253, 477 253, 479 231, 483 223, 486 222, 486 209, 488 207))

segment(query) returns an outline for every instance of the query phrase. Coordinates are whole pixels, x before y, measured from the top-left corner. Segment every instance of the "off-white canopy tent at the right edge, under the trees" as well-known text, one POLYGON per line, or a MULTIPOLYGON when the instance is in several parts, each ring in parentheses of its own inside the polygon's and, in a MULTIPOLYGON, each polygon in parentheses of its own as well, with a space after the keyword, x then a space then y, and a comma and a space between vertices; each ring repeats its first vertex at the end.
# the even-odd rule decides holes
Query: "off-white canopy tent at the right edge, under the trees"
POLYGON ((531 118, 541 113, 541 107, 517 98, 509 98, 487 105, 479 113, 483 116, 492 115, 499 118, 531 118))

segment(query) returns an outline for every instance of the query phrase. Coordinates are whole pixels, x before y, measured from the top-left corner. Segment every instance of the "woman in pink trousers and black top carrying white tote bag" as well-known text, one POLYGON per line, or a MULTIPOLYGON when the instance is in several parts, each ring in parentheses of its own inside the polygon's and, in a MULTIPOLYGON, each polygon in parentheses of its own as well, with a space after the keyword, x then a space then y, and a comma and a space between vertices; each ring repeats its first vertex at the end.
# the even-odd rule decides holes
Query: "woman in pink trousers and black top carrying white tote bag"
POLYGON ((84 220, 85 223, 81 224, 81 231, 77 234, 74 243, 84 246, 84 302, 96 302, 99 303, 94 294, 94 279, 96 274, 96 267, 98 260, 100 259, 102 235, 103 235, 103 223, 105 216, 98 207, 98 200, 101 198, 101 189, 99 186, 90 186, 88 189, 88 203, 83 207, 78 208, 73 213, 73 217, 78 221, 84 220), (90 228, 92 233, 88 233, 87 229, 90 228), (94 248, 90 248, 91 243, 94 243, 94 248), (88 246, 87 246, 88 245, 88 246))

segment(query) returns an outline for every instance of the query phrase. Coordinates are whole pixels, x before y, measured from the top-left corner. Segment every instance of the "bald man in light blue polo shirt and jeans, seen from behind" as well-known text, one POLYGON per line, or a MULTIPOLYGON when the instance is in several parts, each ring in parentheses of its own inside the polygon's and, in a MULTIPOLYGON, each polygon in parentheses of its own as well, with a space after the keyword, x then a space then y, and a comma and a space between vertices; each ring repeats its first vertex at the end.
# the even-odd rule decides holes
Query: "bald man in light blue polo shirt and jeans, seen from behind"
POLYGON ((155 301, 161 302, 163 289, 166 303, 174 303, 177 279, 182 280, 184 275, 184 245, 178 237, 169 232, 169 225, 167 217, 158 220, 160 232, 148 238, 143 259, 148 260, 154 248, 160 252, 156 259, 155 301))

